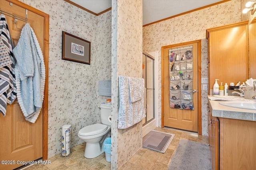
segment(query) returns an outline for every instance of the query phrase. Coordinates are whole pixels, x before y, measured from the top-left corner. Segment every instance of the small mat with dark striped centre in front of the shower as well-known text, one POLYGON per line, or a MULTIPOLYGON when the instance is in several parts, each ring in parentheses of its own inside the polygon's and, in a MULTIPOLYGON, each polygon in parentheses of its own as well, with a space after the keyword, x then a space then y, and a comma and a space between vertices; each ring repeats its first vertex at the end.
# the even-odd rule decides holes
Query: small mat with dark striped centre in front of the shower
POLYGON ((174 134, 152 130, 143 137, 142 147, 164 153, 173 138, 174 134))

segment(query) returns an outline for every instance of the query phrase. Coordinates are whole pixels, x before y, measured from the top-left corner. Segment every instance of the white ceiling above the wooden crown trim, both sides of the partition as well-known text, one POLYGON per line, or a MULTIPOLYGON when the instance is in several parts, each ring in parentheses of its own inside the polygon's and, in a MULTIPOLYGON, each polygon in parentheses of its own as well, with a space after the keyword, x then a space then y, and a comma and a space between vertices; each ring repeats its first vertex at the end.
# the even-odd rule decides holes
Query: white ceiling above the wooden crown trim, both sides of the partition
MULTIPOLYGON (((111 0, 70 0, 96 14, 111 7, 111 0)), ((142 25, 159 21, 222 0, 142 0, 142 25)))

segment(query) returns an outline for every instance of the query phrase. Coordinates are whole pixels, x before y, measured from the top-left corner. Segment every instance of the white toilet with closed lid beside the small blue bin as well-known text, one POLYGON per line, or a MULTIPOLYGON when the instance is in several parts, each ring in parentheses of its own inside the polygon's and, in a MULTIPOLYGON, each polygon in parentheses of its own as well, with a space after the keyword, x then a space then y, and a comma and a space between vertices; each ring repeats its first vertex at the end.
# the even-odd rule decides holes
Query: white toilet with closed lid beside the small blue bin
POLYGON ((95 123, 83 127, 78 132, 78 137, 86 142, 84 157, 95 158, 102 154, 103 142, 110 137, 111 121, 111 104, 100 105, 101 123, 95 123))

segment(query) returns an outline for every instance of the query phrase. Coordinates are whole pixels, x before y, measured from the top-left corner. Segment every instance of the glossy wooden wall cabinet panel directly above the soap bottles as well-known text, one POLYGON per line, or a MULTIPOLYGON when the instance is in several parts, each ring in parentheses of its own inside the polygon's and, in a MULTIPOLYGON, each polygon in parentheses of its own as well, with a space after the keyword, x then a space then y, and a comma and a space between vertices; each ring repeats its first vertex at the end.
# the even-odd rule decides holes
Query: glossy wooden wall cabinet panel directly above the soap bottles
POLYGON ((218 83, 248 79, 248 21, 206 30, 208 39, 209 89, 218 83))

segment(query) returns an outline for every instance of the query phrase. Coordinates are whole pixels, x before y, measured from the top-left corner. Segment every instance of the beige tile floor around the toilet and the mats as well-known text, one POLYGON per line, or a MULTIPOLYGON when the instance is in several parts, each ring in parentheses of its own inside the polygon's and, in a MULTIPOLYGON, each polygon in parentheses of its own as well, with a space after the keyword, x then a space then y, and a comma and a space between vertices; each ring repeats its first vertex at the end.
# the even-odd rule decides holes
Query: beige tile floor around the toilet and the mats
MULTIPOLYGON (((186 139, 199 143, 208 144, 208 137, 200 136, 194 133, 178 131, 170 128, 156 127, 156 131, 175 134, 172 142, 164 154, 149 149, 141 148, 138 150, 120 170, 167 170, 172 156, 180 142, 180 139, 186 139)), ((50 158, 51 164, 36 164, 25 168, 24 170, 110 170, 110 162, 106 162, 105 153, 100 156, 88 159, 84 157, 85 143, 72 148, 69 158, 57 154, 50 158)))

